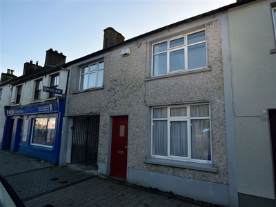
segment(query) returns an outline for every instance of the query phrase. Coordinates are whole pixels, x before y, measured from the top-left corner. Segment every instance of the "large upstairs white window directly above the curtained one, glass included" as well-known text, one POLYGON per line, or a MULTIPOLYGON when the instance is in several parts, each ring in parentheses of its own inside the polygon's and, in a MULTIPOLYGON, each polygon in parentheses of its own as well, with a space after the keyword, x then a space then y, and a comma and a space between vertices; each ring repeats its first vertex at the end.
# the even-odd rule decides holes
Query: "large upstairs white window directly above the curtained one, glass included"
POLYGON ((205 30, 198 30, 152 44, 152 77, 205 68, 205 33, 205 30))

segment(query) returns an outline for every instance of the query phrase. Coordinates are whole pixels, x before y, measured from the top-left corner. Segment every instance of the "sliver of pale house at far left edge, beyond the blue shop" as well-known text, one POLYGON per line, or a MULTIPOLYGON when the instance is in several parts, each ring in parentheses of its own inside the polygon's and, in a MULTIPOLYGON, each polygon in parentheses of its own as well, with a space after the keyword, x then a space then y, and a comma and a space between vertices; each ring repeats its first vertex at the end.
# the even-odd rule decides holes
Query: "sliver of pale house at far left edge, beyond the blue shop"
MULTIPOLYGON (((3 130, 5 127, 5 113, 3 108, 6 105, 10 104, 10 81, 17 76, 14 75, 14 70, 7 69, 7 72, 1 73, 1 79, 0 79, 0 135, 3 135, 3 130)), ((0 136, 0 148, 2 143, 2 136, 0 136)))

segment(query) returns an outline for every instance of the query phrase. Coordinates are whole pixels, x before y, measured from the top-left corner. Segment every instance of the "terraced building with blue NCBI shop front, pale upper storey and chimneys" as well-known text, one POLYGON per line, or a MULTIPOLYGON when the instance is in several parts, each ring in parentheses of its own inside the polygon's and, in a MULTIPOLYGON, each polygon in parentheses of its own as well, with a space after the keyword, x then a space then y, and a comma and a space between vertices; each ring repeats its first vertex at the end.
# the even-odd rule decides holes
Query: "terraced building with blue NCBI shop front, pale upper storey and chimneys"
POLYGON ((68 70, 66 56, 46 51, 43 67, 24 63, 23 75, 12 79, 5 106, 2 150, 19 152, 59 164, 68 70))

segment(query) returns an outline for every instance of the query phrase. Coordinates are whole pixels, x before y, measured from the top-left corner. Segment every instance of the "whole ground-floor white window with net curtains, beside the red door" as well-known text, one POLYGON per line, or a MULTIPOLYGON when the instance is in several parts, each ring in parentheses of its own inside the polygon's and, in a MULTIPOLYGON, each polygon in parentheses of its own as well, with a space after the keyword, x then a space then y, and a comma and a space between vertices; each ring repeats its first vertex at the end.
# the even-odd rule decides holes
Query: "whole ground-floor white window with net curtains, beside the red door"
POLYGON ((152 108, 151 156, 211 164, 209 104, 152 108))

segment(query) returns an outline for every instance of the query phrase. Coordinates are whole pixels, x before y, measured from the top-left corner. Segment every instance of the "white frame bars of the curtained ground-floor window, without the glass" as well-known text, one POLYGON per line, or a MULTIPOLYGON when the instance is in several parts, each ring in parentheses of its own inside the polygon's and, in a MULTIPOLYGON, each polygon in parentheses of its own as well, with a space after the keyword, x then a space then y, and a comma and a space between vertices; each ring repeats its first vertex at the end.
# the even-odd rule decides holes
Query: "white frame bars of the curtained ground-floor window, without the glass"
POLYGON ((169 160, 176 160, 176 161, 190 161, 195 163, 203 163, 203 164, 212 164, 213 163, 213 152, 212 152, 212 131, 211 131, 211 120, 210 120, 210 104, 209 103, 196 103, 191 105, 177 105, 177 106, 157 106, 151 108, 151 145, 150 145, 150 154, 153 158, 158 159, 169 159, 169 160), (190 117, 190 106, 201 106, 201 105, 208 105, 209 108, 209 116, 208 117, 190 117), (170 108, 181 108, 186 107, 187 108, 187 116, 183 117, 170 117, 170 108), (153 110, 155 108, 167 108, 167 118, 153 118, 153 110), (203 160, 203 159, 192 159, 192 138, 191 138, 191 132, 190 132, 190 126, 191 126, 191 120, 197 120, 197 119, 208 119, 210 124, 210 160, 203 160), (167 137, 168 137, 168 144, 167 144, 167 154, 168 155, 153 155, 153 121, 155 120, 165 120, 167 121, 167 137), (178 157, 170 155, 170 122, 172 121, 187 121, 187 131, 188 131, 188 157, 178 157))

